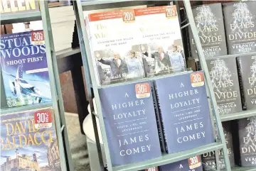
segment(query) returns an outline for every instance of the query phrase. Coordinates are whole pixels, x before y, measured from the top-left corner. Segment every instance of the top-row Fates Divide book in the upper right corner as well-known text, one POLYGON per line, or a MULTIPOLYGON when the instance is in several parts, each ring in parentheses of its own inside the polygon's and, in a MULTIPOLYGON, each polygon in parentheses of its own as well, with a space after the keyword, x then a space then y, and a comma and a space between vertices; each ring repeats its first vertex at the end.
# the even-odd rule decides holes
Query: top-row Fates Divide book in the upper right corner
POLYGON ((256 51, 255 1, 223 4, 228 54, 256 51))

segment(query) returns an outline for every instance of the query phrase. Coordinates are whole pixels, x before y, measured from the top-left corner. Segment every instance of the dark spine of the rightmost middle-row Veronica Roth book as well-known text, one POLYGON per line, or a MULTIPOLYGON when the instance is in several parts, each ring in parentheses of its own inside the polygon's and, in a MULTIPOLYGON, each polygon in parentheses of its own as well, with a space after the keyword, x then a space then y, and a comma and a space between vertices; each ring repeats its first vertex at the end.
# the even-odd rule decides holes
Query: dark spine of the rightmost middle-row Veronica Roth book
POLYGON ((238 66, 238 81, 240 87, 240 96, 241 96, 241 103, 242 103, 242 110, 246 110, 246 103, 245 103, 245 92, 244 86, 242 84, 242 68, 241 68, 241 61, 240 57, 236 58, 237 66, 238 66))

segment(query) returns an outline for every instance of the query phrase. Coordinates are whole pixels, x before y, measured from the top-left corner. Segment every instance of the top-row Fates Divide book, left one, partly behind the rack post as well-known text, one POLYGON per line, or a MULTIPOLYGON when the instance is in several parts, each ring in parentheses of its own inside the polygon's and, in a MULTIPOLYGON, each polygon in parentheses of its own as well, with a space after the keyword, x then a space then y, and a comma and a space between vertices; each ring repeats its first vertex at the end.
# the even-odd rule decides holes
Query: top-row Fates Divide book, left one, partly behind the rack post
MULTIPOLYGON (((225 42, 225 28, 223 23, 223 11, 220 3, 208 4, 203 6, 195 6, 192 9, 198 31, 203 54, 205 57, 215 57, 227 55, 227 47, 225 42)), ((191 55, 198 58, 197 48, 191 28, 191 55)))

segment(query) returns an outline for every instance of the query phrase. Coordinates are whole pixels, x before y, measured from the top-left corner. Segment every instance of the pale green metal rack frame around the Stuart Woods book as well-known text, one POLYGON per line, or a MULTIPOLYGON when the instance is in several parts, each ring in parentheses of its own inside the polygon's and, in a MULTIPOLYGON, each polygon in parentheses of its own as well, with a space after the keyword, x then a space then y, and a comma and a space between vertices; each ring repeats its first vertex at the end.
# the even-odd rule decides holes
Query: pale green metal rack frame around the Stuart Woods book
POLYGON ((50 79, 51 102, 33 104, 26 106, 18 106, 13 108, 6 107, 6 96, 4 93, 3 79, 1 78, 1 114, 9 114, 13 112, 22 112, 33 109, 41 109, 45 107, 52 107, 55 116, 56 134, 58 136, 58 145, 60 151, 60 165, 61 171, 73 171, 73 162, 70 154, 68 143, 68 130, 65 123, 65 113, 63 106, 63 98, 60 89, 60 79, 58 75, 57 59, 55 57, 55 50, 53 45, 53 35, 50 26, 50 15, 48 11, 48 1, 39 1, 41 11, 28 11, 27 13, 11 13, 9 15, 1 16, 1 24, 7 23, 22 23, 26 21, 43 22, 43 34, 46 43, 46 57, 48 64, 48 73, 50 79))

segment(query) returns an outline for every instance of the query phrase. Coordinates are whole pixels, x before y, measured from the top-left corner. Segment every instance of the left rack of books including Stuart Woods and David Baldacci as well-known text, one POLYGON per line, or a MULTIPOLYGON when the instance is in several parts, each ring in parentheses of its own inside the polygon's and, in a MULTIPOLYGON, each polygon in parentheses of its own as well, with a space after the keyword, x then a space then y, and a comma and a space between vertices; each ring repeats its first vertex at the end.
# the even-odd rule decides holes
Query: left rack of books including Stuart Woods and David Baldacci
POLYGON ((1 29, 0 170, 73 170, 47 1, 1 1, 6 23, 24 30, 1 29))

